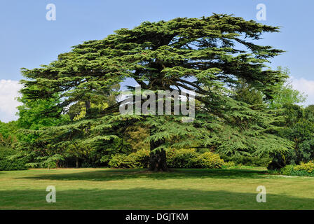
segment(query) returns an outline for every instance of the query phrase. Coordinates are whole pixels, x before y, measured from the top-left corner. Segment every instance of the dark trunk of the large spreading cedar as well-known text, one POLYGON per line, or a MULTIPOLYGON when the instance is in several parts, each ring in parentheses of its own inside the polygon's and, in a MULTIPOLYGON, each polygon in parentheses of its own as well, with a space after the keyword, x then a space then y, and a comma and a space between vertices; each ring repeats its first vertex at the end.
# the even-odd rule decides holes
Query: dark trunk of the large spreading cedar
POLYGON ((165 151, 156 151, 152 152, 153 149, 161 146, 165 141, 158 140, 158 141, 151 141, 151 154, 149 158, 149 170, 158 172, 158 171, 168 171, 167 162, 166 162, 166 155, 165 151))

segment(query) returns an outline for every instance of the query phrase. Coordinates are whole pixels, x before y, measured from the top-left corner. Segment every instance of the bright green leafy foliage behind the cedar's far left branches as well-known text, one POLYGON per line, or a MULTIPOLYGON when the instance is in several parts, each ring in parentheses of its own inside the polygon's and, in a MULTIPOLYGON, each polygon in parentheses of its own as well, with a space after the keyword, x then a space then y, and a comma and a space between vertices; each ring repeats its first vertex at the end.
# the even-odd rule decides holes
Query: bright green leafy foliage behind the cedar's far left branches
MULTIPOLYGON (((32 87, 36 90, 36 87, 32 87)), ((57 154, 49 144, 46 144, 46 139, 41 135, 42 128, 53 127, 60 123, 67 122, 67 115, 60 115, 60 109, 56 109, 58 104, 58 94, 53 94, 48 99, 30 100, 26 94, 18 98, 22 102, 22 106, 18 106, 19 119, 17 125, 18 143, 15 148, 23 151, 27 157, 27 167, 55 167, 52 160, 55 160, 53 155, 57 154), (53 116, 47 116, 46 111, 53 113, 53 116), (50 159, 50 157, 52 157, 50 159), (45 163, 45 161, 47 163, 45 163)), ((57 156, 57 155, 56 155, 57 156)))

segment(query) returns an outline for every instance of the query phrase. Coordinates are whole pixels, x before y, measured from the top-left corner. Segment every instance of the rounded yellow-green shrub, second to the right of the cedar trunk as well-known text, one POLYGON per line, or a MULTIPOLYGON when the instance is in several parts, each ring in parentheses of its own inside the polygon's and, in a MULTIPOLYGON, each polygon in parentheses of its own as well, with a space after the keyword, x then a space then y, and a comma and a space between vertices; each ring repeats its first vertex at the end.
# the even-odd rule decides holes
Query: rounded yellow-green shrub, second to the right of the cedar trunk
POLYGON ((200 154, 195 160, 195 165, 198 168, 221 168, 225 164, 218 154, 211 152, 200 154))

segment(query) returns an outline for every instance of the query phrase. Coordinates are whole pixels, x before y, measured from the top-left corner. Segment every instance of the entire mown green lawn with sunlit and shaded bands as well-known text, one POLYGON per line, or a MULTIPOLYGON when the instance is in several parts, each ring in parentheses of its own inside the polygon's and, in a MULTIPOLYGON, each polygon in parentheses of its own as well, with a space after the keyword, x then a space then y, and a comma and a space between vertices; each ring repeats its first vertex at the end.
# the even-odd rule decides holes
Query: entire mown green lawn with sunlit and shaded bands
POLYGON ((314 209, 314 178, 264 168, 2 171, 0 209, 314 209), (46 202, 47 186, 56 203, 46 202), (266 187, 266 203, 257 203, 257 186, 266 187))

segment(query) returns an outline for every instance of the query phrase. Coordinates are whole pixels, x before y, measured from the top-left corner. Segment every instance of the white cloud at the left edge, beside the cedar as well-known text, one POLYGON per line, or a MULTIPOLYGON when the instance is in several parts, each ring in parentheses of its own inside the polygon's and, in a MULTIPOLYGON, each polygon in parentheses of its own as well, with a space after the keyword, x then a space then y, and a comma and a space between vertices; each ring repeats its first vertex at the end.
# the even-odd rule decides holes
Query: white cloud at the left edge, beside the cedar
POLYGON ((0 80, 0 120, 2 122, 8 122, 11 120, 17 120, 18 116, 15 113, 18 112, 17 106, 20 106, 15 98, 19 97, 19 90, 22 85, 16 80, 0 80))

